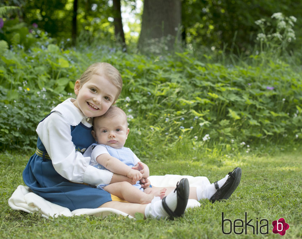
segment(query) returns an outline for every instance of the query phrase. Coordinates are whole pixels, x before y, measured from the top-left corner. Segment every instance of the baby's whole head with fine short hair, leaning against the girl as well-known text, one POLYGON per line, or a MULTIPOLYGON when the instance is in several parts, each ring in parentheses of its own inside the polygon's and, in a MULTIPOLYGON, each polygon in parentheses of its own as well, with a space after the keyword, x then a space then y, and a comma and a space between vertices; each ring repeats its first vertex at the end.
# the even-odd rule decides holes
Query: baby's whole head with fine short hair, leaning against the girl
POLYGON ((104 115, 93 118, 92 135, 98 144, 122 148, 128 134, 127 115, 119 107, 111 106, 104 115))

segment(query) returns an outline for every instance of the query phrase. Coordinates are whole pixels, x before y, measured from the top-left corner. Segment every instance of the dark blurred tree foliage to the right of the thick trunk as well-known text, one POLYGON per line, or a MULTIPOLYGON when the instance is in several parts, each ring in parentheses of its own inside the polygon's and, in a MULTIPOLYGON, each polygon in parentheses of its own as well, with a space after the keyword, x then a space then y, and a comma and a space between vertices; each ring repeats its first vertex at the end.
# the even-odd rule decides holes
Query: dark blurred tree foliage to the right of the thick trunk
POLYGON ((182 0, 182 22, 186 41, 194 48, 214 47, 240 55, 242 52, 250 54, 255 45, 258 29, 254 22, 261 18, 269 20, 272 14, 282 12, 298 19, 294 28, 297 41, 288 48, 292 50, 301 45, 300 9, 300 1, 290 0, 182 0))

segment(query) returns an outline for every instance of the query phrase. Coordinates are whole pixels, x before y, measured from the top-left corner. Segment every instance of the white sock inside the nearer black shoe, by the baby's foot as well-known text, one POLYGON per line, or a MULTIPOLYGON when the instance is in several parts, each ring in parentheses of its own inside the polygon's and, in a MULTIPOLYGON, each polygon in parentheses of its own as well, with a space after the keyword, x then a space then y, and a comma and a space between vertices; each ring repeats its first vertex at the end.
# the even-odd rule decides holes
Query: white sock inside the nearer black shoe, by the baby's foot
MULTIPOLYGON (((168 196, 166 196, 165 202, 169 209, 174 212, 177 206, 177 191, 170 192, 168 196)), ((169 217, 169 214, 162 206, 160 197, 154 197, 151 203, 146 206, 145 217, 151 217, 153 219, 169 217)))

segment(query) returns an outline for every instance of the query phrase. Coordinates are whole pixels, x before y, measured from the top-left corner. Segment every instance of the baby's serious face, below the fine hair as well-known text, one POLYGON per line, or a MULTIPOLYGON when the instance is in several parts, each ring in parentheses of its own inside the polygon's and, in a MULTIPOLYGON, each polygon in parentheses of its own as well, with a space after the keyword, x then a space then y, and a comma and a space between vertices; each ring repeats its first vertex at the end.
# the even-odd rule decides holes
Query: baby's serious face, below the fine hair
POLYGON ((127 120, 123 116, 97 120, 93 128, 92 135, 98 144, 105 144, 112 148, 122 148, 129 134, 127 120))

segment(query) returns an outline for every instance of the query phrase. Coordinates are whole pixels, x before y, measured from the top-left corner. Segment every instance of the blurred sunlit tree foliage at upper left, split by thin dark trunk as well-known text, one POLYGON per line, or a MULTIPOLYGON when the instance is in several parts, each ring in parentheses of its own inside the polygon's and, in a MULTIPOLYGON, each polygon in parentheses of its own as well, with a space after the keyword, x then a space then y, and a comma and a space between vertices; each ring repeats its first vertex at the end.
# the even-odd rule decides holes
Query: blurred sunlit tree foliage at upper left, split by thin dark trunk
MULTIPOLYGON (((59 43, 64 41, 64 45, 71 45, 71 41, 66 43, 66 40, 71 38, 73 1, 26 1, 22 10, 28 25, 36 23, 51 37, 57 38, 59 43)), ((107 38, 114 40, 113 22, 108 17, 113 17, 108 1, 78 1, 77 32, 80 40, 84 38, 86 43, 95 37, 103 41, 107 38)))

